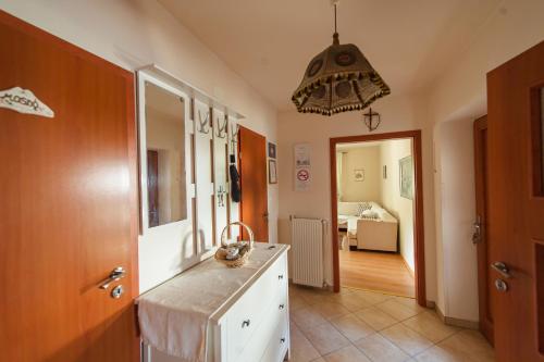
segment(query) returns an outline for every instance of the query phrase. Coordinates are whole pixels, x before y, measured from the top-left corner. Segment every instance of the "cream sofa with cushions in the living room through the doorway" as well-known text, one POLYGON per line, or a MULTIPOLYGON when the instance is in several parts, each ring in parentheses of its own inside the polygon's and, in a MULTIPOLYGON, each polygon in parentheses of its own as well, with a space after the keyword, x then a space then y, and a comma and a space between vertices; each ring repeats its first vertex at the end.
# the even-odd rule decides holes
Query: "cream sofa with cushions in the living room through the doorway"
POLYGON ((367 201, 371 209, 366 214, 375 219, 361 217, 361 202, 338 202, 338 228, 347 228, 349 246, 357 249, 397 251, 398 222, 379 203, 367 201))

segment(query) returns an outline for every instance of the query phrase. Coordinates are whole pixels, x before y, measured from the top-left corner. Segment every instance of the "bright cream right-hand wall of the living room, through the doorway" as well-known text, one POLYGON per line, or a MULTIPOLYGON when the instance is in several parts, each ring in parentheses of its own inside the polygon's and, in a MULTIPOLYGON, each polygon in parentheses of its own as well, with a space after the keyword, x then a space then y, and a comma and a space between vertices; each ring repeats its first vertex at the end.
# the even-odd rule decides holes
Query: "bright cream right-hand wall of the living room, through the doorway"
POLYGON ((412 155, 411 139, 395 139, 380 145, 380 161, 387 166, 387 178, 381 179, 381 202, 398 220, 400 254, 413 272, 413 201, 400 196, 400 168, 398 161, 412 155))

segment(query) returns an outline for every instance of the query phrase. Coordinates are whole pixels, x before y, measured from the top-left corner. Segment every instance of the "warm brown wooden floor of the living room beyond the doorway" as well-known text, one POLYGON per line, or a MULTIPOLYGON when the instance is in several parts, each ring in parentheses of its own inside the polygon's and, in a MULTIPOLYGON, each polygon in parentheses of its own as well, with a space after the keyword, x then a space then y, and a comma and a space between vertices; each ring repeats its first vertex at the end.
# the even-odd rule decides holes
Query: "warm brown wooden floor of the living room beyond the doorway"
POLYGON ((413 276, 400 254, 338 250, 341 285, 395 296, 416 296, 413 276))

